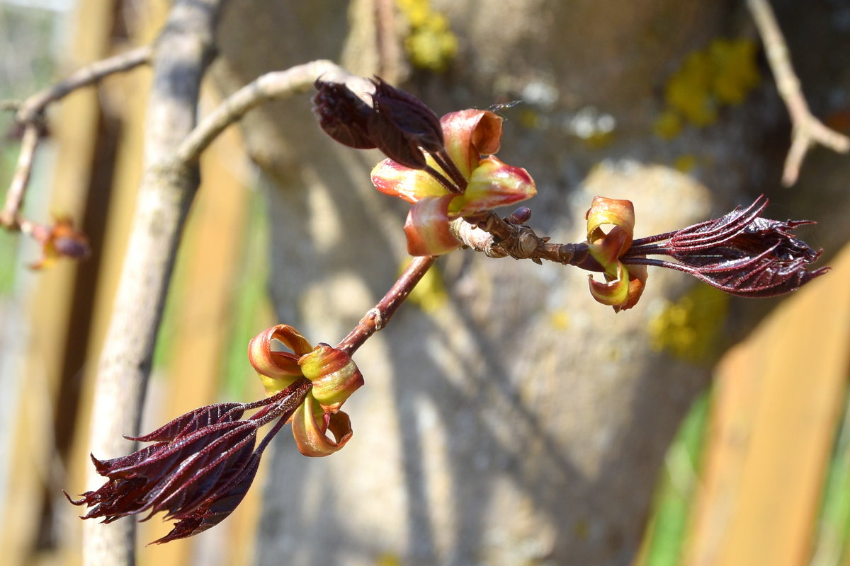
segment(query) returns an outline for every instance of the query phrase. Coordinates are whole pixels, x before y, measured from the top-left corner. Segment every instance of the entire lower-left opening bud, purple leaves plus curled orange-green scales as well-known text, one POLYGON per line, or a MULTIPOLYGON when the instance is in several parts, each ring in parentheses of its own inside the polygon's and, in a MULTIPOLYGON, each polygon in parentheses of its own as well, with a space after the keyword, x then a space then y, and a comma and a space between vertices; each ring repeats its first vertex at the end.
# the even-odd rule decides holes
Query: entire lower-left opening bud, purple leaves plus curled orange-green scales
POLYGON ((111 460, 92 457, 98 474, 108 480, 77 501, 68 497, 89 507, 83 518, 109 523, 164 511, 177 523, 155 542, 185 538, 233 512, 257 474, 263 451, 285 423, 292 421, 298 449, 307 456, 327 456, 345 446, 351 422, 339 407, 363 384, 346 352, 326 344, 313 348, 295 328, 278 324, 251 340, 248 356, 261 372, 268 397, 203 406, 149 434, 127 437, 155 444, 111 460), (292 351, 279 351, 275 342, 292 351), (249 409, 258 411, 242 418, 249 409), (272 422, 255 447, 258 429, 272 422))

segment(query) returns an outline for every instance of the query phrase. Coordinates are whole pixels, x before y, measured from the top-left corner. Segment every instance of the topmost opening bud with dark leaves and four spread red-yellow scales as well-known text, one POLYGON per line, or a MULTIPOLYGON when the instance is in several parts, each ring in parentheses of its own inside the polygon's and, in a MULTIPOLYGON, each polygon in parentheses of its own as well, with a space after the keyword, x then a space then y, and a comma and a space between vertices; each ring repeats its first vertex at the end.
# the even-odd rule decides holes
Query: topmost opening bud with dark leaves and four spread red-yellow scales
POLYGON ((535 195, 528 171, 484 156, 499 149, 499 115, 467 109, 438 119, 409 92, 380 78, 371 84, 371 105, 364 108, 362 93, 341 83, 316 81, 314 111, 320 126, 337 141, 387 154, 389 159, 372 170, 371 180, 382 193, 416 204, 405 223, 411 254, 456 249, 460 242, 451 234, 450 221, 535 195))

